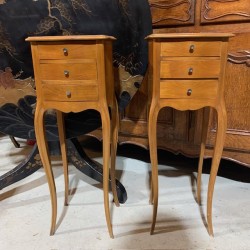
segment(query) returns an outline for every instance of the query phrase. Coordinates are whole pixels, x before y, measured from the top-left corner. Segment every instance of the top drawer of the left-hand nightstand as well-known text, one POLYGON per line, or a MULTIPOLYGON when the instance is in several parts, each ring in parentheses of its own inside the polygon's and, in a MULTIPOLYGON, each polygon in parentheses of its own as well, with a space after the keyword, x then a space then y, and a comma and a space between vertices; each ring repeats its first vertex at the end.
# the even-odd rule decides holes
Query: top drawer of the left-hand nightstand
MULTIPOLYGON (((72 43, 72 42, 71 42, 72 43)), ((96 58, 96 44, 43 43, 37 46, 40 59, 81 59, 96 58)))

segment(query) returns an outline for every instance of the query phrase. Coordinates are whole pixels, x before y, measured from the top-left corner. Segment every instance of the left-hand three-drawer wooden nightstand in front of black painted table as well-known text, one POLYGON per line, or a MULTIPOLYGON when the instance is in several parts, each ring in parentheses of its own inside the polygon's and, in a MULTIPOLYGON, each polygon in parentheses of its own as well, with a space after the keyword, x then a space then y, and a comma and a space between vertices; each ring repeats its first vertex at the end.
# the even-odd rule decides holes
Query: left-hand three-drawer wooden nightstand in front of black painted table
POLYGON ((108 196, 110 144, 111 186, 116 205, 119 205, 115 187, 118 109, 113 80, 113 40, 113 37, 104 35, 29 37, 26 39, 26 41, 31 42, 37 91, 36 140, 51 195, 51 235, 55 232, 57 201, 54 177, 45 139, 44 113, 48 109, 57 110, 65 176, 65 204, 67 204, 68 165, 62 112, 80 112, 86 109, 95 109, 100 112, 102 120, 104 206, 109 234, 113 238, 108 196), (111 118, 109 107, 111 109, 111 118))

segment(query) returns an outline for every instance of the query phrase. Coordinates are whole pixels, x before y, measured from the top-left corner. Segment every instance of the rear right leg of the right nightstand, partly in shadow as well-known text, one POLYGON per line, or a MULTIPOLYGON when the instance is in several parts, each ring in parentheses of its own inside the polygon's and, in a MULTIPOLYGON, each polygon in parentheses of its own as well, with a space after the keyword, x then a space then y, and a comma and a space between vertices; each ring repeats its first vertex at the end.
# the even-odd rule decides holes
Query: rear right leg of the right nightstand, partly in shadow
POLYGON ((202 122, 201 149, 200 149, 200 158, 199 158, 198 175, 197 175, 197 202, 199 205, 201 205, 201 175, 202 175, 202 166, 204 161, 205 146, 207 140, 209 115, 210 115, 210 107, 205 107, 203 114, 203 122, 202 122))

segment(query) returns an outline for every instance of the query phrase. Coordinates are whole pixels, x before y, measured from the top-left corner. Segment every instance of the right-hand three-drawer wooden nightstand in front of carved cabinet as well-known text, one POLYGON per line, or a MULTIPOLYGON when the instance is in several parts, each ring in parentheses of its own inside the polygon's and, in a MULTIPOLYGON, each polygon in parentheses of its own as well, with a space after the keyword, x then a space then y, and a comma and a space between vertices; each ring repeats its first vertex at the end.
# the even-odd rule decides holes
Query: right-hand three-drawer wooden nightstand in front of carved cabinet
POLYGON ((148 137, 152 164, 152 201, 154 205, 151 234, 154 232, 158 206, 157 117, 161 108, 178 110, 205 108, 202 144, 198 167, 197 200, 200 203, 202 164, 209 122, 209 108, 217 111, 217 135, 207 194, 208 232, 213 235, 212 197, 223 151, 227 127, 224 103, 224 75, 227 45, 232 34, 187 33, 153 34, 149 42, 149 115, 148 137))

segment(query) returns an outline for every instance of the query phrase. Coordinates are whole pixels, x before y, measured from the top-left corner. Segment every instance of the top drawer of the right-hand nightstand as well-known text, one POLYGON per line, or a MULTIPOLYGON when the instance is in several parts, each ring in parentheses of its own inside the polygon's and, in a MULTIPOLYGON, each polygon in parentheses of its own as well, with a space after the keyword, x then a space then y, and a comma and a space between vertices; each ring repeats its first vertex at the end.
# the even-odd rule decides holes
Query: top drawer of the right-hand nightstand
POLYGON ((220 56, 220 41, 175 41, 161 44, 161 56, 220 56))

